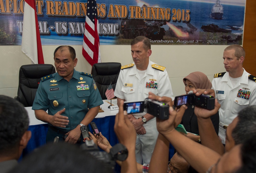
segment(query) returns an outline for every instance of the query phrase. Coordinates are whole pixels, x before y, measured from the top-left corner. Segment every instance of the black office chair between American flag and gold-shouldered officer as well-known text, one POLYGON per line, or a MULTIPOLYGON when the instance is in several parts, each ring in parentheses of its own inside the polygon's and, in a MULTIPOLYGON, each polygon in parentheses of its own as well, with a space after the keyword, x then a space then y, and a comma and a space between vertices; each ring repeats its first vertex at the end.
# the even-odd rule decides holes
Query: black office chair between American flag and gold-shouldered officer
POLYGON ((120 70, 121 63, 117 62, 104 62, 93 64, 91 74, 100 91, 102 100, 107 99, 105 92, 111 82, 112 87, 115 90, 120 70))

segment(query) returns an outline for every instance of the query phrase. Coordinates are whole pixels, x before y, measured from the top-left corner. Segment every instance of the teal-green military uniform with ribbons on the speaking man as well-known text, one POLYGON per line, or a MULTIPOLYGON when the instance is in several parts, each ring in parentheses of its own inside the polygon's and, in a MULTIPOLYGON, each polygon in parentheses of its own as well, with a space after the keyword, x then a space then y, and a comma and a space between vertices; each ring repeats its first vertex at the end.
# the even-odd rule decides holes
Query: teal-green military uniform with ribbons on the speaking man
MULTIPOLYGON (((67 116, 69 123, 66 128, 57 127, 57 129, 70 131, 84 119, 88 108, 102 104, 92 75, 74 70, 69 82, 58 73, 42 77, 32 109, 44 111, 48 109, 48 114, 54 115, 66 108, 61 115, 67 116)), ((52 126, 50 123, 48 125, 52 126)))

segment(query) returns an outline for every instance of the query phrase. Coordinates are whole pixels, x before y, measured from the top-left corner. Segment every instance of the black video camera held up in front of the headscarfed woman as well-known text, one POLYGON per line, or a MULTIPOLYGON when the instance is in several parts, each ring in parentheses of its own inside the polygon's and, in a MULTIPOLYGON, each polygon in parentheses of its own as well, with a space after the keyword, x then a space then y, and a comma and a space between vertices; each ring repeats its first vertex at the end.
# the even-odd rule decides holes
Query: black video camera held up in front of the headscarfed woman
MULTIPOLYGON (((191 91, 189 91, 191 92, 191 91)), ((215 98, 210 95, 200 95, 196 96, 195 94, 187 94, 182 96, 177 96, 174 99, 174 106, 179 108, 182 105, 194 105, 204 109, 212 110, 215 106, 215 98)))

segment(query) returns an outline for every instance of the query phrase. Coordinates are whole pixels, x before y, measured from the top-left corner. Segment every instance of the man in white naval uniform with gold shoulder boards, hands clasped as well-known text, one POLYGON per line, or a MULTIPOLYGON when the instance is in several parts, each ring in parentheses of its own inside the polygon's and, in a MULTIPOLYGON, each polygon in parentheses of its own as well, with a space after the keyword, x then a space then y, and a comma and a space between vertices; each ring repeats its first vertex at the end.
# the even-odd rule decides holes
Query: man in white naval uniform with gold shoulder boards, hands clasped
MULTIPOLYGON (((114 95, 118 104, 124 101, 140 101, 148 97, 148 93, 171 97, 172 86, 165 67, 149 60, 151 55, 150 40, 138 36, 131 42, 134 63, 121 67, 114 95)), ((156 118, 148 113, 133 113, 129 116, 137 132, 136 161, 149 164, 155 147, 158 131, 156 118)))

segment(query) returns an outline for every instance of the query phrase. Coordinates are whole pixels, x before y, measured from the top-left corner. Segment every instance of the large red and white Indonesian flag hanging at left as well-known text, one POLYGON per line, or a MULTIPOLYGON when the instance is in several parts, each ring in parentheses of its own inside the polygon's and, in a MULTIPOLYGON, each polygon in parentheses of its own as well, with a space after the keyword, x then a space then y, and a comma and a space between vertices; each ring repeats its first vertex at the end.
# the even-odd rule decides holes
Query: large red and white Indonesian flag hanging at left
POLYGON ((21 50, 34 64, 44 64, 35 0, 24 2, 21 50))

